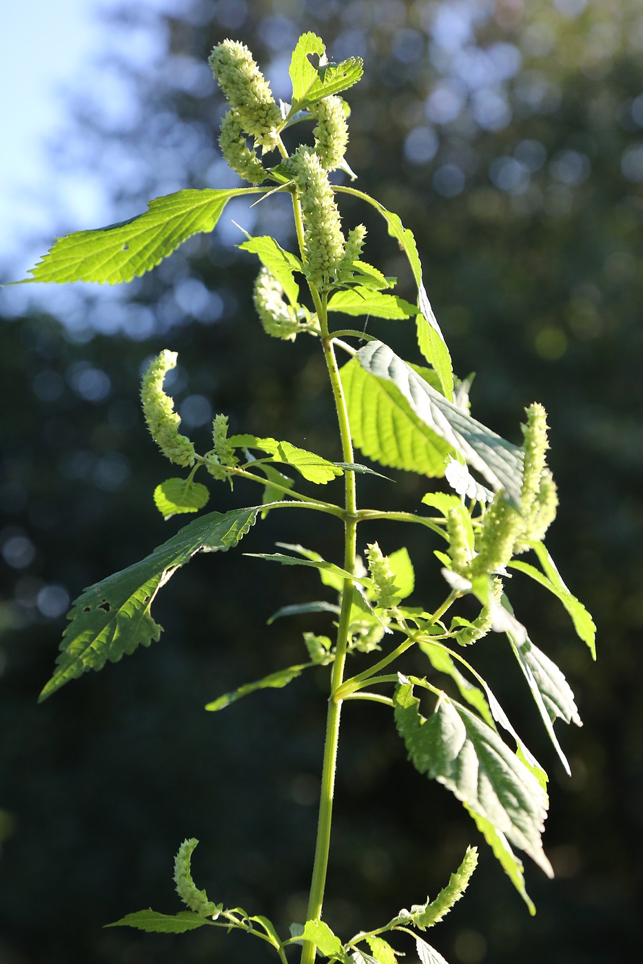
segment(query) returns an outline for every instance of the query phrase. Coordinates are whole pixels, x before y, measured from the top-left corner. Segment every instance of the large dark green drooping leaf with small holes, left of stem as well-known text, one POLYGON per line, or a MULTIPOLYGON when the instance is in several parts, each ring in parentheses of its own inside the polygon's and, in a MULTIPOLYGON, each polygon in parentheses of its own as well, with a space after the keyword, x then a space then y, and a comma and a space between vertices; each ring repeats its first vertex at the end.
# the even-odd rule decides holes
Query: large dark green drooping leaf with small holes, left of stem
POLYGON ((225 552, 236 546, 256 522, 260 508, 224 515, 210 512, 185 525, 141 562, 86 589, 73 603, 57 669, 42 689, 41 701, 87 670, 102 669, 106 660, 118 662, 138 646, 157 641, 161 627, 150 609, 159 588, 196 552, 225 552))

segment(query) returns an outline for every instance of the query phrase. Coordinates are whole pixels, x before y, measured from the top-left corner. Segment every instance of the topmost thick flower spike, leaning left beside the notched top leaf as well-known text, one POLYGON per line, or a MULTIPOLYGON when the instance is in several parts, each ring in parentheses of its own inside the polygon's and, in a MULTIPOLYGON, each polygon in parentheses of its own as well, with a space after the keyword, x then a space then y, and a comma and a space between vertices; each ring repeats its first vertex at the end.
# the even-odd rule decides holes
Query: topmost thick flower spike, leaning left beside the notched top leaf
POLYGON ((224 40, 210 54, 210 67, 241 128, 266 150, 277 146, 281 111, 266 78, 244 43, 224 40))

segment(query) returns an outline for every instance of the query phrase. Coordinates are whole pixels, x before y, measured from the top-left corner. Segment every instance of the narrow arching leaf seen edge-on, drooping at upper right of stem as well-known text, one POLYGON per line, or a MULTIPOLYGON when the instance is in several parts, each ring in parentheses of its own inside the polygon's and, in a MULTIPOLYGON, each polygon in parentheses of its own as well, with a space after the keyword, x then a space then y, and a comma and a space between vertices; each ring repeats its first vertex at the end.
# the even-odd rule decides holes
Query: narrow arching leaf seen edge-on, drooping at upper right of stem
POLYGON ((337 187, 335 190, 352 194, 357 198, 361 198, 362 201, 367 201, 369 204, 372 204, 386 221, 388 233, 392 237, 397 238, 402 250, 405 252, 410 269, 413 272, 413 278, 415 279, 418 292, 418 307, 420 309, 420 314, 418 314, 416 322, 418 345, 427 362, 433 365, 439 375, 444 396, 448 398, 449 401, 452 401, 454 397, 453 364, 451 362, 449 349, 444 340, 444 335, 442 335, 440 327, 437 324, 435 315, 433 314, 433 308, 431 307, 422 281, 422 264, 417 252, 413 232, 405 228, 399 215, 394 214, 392 211, 387 211, 382 204, 363 191, 357 191, 352 187, 337 187))

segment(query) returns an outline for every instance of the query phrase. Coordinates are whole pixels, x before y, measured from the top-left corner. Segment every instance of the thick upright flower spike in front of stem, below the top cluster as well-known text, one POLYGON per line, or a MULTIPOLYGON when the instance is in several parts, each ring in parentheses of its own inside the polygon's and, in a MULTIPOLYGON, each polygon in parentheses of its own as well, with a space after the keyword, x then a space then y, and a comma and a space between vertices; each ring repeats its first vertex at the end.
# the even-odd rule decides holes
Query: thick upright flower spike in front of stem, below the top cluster
POLYGON ((344 262, 342 221, 322 161, 310 147, 297 147, 291 165, 305 226, 306 274, 318 288, 334 279, 344 262))

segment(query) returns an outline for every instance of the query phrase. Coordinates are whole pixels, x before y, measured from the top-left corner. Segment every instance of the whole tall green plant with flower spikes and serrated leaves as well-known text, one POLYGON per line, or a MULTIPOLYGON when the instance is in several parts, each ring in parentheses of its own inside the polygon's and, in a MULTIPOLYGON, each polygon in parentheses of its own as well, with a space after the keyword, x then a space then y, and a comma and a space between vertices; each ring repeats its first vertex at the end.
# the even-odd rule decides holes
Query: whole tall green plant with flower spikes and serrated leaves
MULTIPOLYGON (((210 499, 206 483, 239 478, 257 484, 258 504, 202 515, 141 562, 86 589, 70 611, 56 670, 41 698, 86 670, 101 669, 107 660, 115 662, 156 641, 161 632, 152 616, 156 593, 200 551, 232 549, 267 512, 320 513, 324 527, 336 524, 343 531, 341 559, 326 560, 314 549, 284 544, 279 546, 282 551, 261 558, 317 570, 325 589, 334 594, 332 603, 297 601, 272 618, 325 613, 328 634, 304 633, 304 661, 275 668, 265 680, 243 682, 207 707, 222 710, 258 688, 281 687, 309 668, 326 667, 329 699, 319 833, 306 920, 294 922, 289 934, 279 934, 260 914, 212 901, 192 880, 190 859, 197 841, 187 839, 179 847, 174 871, 187 909, 174 915, 138 911, 112 926, 172 933, 203 926, 238 928, 266 942, 282 962, 298 947, 302 964, 312 964, 317 952, 343 964, 395 964, 398 943, 410 937, 421 961, 443 962, 421 932, 460 899, 476 866, 475 846, 468 847, 461 866, 434 900, 412 904, 377 928, 346 940, 334 933, 332 922, 323 920, 340 716, 346 703, 360 700, 390 711, 410 762, 461 801, 533 913, 517 851, 551 875, 541 839, 547 777, 469 654, 474 645, 485 645, 489 632, 506 636, 507 655, 517 659, 545 730, 569 772, 553 723, 561 718, 580 724, 573 692, 558 667, 532 643, 505 587, 508 576, 529 576, 556 596, 595 656, 592 619, 566 587, 543 541, 558 502, 546 465, 545 410, 539 404, 525 410, 520 445, 500 438, 469 414, 466 384, 454 377, 422 283, 412 233, 373 198, 330 182, 332 171, 354 180, 345 160, 349 109, 341 94, 360 79, 359 58, 328 63, 322 40, 303 35, 290 68, 290 104, 275 102, 250 51, 238 41, 218 44, 210 66, 229 104, 221 125, 221 151, 252 186, 179 191, 150 201, 144 214, 121 225, 70 234, 42 258, 30 281, 131 281, 188 237, 211 231, 231 198, 257 195, 269 203, 270 195, 289 194, 297 251, 283 250, 269 236, 248 236, 239 247, 260 262, 253 296, 266 335, 284 341, 305 336, 311 351, 322 352, 342 461, 329 461, 283 439, 230 435, 225 415, 213 420, 210 451, 197 452, 181 434, 181 419, 163 390, 177 355, 162 351, 150 362, 141 387, 150 433, 175 467, 173 476, 154 492, 158 510, 166 519, 198 512, 210 499), (301 143, 287 150, 282 135, 294 125, 312 146, 301 143), (372 205, 384 219, 408 259, 418 292, 415 304, 396 295, 395 279, 385 278, 364 259, 366 228, 344 228, 339 206, 344 195, 372 205), (348 326, 342 316, 348 316, 348 326), (350 327, 351 319, 369 316, 409 319, 424 365, 406 362, 388 344, 350 327), (444 478, 444 491, 424 495, 417 513, 360 508, 358 477, 375 469, 355 461, 355 449, 386 469, 444 478), (195 481, 197 473, 200 481, 195 481), (317 495, 321 486, 340 477, 343 500, 317 495), (377 542, 359 541, 359 525, 366 521, 382 523, 380 539, 387 552, 377 542), (413 565, 404 547, 388 550, 385 530, 392 521, 423 526, 427 546, 435 547, 435 585, 443 586, 437 607, 407 604, 414 590, 413 565), (524 561, 526 553, 530 562, 524 561), (478 608, 474 618, 461 614, 464 597, 469 597, 464 610, 469 615, 471 600, 478 608), (426 657, 426 676, 410 674, 405 654, 411 649, 426 657)), ((358 711, 358 705, 354 709, 358 711)), ((403 899, 408 901, 408 896, 403 899)))

